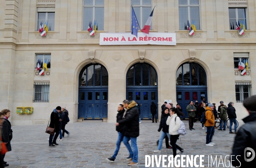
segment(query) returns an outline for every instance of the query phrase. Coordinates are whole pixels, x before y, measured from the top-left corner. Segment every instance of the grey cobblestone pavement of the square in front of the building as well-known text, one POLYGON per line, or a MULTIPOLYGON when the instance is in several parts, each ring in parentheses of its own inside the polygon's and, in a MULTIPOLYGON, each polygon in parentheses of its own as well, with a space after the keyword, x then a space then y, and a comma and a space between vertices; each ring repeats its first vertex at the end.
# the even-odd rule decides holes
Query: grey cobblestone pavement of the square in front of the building
MULTIPOLYGON (((188 127, 188 121, 184 121, 188 127)), ((241 122, 239 122, 241 125, 241 122)), ((239 126, 240 126, 239 125, 239 126)), ((145 167, 145 155, 152 155, 157 149, 156 141, 160 133, 157 131, 159 124, 151 121, 142 121, 140 124, 140 136, 137 139, 139 149, 139 165, 133 167, 145 167)), ((109 163, 105 159, 111 157, 115 150, 116 138, 114 123, 99 121, 83 121, 69 123, 66 129, 70 131, 70 137, 64 137, 63 141, 57 141, 58 146, 49 147, 49 134, 46 134, 47 125, 13 126, 12 151, 6 154, 10 165, 8 168, 122 168, 128 167, 125 157, 128 151, 122 143, 115 163, 109 163)), ((229 131, 217 131, 213 141, 214 147, 205 146, 206 134, 201 128, 201 123, 196 122, 195 130, 181 136, 177 144, 185 149, 186 155, 230 155, 235 134, 229 131), (181 144, 182 142, 182 144, 181 144)), ((170 155, 172 149, 166 149, 163 143, 161 154, 170 155)), ((157 154, 160 155, 160 154, 157 154)), ((206 160, 204 162, 206 164, 206 160)), ((214 166, 212 166, 214 167, 214 166)), ((219 166, 221 167, 221 166, 219 166)))

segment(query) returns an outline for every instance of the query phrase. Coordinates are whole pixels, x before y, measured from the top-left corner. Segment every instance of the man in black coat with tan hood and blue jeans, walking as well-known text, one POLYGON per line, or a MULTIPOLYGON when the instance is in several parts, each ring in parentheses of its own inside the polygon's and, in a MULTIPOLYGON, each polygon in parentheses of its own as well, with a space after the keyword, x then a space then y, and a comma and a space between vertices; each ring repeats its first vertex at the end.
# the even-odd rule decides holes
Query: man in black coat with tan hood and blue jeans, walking
POLYGON ((131 102, 124 100, 123 106, 126 108, 124 117, 122 120, 116 122, 116 126, 124 125, 122 132, 124 134, 123 142, 126 147, 128 147, 129 140, 131 140, 131 148, 133 152, 130 153, 131 158, 126 158, 129 159, 129 166, 138 165, 137 137, 139 137, 140 134, 140 124, 139 113, 135 105, 136 102, 134 100, 131 102))

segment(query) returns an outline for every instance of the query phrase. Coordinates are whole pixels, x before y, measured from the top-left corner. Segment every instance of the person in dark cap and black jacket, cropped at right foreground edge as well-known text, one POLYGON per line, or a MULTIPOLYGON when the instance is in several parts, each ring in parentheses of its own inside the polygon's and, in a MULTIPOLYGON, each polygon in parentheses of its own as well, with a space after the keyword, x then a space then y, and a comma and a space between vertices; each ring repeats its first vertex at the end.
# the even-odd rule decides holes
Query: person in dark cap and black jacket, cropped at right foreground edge
POLYGON ((256 165, 256 95, 245 99, 243 104, 249 116, 243 119, 245 124, 236 134, 231 163, 235 167, 253 168, 256 165))

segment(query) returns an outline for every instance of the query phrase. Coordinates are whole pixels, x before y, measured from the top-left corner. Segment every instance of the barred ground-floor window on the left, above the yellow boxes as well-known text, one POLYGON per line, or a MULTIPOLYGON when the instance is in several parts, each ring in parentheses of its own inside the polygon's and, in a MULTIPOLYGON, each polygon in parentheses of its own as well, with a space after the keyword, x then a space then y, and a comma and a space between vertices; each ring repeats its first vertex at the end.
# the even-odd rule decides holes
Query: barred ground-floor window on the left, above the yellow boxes
POLYGON ((33 102, 49 102, 49 89, 49 82, 35 82, 33 102))

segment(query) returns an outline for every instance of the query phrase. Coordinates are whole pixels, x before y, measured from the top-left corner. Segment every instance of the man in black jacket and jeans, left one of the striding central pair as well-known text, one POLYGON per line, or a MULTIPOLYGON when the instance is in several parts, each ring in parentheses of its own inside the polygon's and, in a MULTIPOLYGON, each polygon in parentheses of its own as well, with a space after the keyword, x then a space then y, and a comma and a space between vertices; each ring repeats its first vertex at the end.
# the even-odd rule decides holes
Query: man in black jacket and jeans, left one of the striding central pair
MULTIPOLYGON (((118 113, 117 113, 117 115, 116 115, 116 122, 119 122, 120 120, 122 120, 122 117, 123 117, 123 115, 124 115, 124 113, 125 113, 125 109, 124 109, 124 107, 123 107, 122 104, 119 104, 119 105, 118 105, 117 111, 118 111, 118 113)), ((114 152, 114 154, 113 154, 112 157, 106 159, 106 160, 108 160, 108 161, 111 162, 111 163, 115 162, 115 159, 116 159, 116 156, 117 156, 117 154, 118 154, 118 151, 119 151, 121 142, 122 142, 122 140, 123 140, 123 138, 124 138, 124 135, 122 134, 122 128, 123 128, 123 126, 124 126, 124 125, 121 125, 121 124, 119 124, 118 126, 116 126, 116 131, 118 132, 118 138, 117 138, 117 141, 116 141, 116 150, 115 150, 115 152, 114 152)), ((127 149, 128 149, 128 151, 129 151, 129 153, 133 154, 130 145, 127 146, 127 149)), ((130 158, 129 158, 129 159, 130 159, 130 158)))

